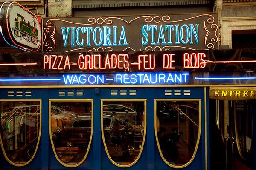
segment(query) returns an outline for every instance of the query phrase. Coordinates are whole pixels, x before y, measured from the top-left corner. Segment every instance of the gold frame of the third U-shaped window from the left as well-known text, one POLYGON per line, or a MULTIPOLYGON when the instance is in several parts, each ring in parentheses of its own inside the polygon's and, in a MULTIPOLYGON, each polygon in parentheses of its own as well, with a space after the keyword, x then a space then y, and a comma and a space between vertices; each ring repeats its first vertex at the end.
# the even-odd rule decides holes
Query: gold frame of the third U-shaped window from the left
POLYGON ((101 133, 102 133, 102 140, 103 140, 103 144, 104 144, 104 148, 106 151, 106 154, 108 156, 108 159, 117 167, 131 167, 134 164, 137 163, 137 161, 140 159, 141 153, 143 151, 143 147, 145 144, 145 138, 146 138, 146 130, 147 130, 147 99, 101 99, 101 133), (140 148, 140 153, 137 156, 137 158, 135 159, 135 161, 133 161, 131 164, 128 165, 121 165, 121 164, 117 164, 115 161, 113 161, 113 159, 111 158, 111 156, 108 153, 108 148, 107 148, 107 144, 105 142, 105 136, 104 136, 104 129, 103 129, 103 102, 144 102, 144 133, 143 133, 143 141, 141 144, 141 148, 140 148))

